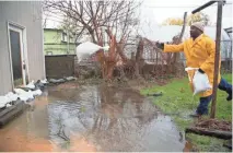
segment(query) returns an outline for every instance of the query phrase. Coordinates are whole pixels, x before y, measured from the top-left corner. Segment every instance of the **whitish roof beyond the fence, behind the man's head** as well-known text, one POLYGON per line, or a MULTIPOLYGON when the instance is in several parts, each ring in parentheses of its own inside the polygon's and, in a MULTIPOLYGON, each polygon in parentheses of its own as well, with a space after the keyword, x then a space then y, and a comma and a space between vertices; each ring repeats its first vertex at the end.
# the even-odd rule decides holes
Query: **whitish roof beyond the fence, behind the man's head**
MULTIPOLYGON (((190 26, 186 26, 183 39, 189 38, 189 30, 190 30, 190 26)), ((172 38, 180 32, 182 32, 182 26, 165 25, 165 26, 155 26, 153 27, 153 30, 143 31, 140 33, 140 35, 151 40, 172 42, 172 38)), ((205 34, 210 36, 212 39, 215 39, 215 27, 206 26, 205 34)), ((225 31, 222 30, 222 40, 229 40, 229 39, 230 39, 229 35, 226 34, 225 31)))

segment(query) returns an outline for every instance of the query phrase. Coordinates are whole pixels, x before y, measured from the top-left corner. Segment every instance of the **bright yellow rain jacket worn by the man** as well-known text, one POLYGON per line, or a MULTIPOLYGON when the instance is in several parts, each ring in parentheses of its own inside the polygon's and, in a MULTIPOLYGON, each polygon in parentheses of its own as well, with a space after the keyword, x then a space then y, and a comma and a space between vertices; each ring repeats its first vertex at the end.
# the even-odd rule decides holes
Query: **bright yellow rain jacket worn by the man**
MULTIPOLYGON (((184 51, 186 57, 187 67, 200 68, 208 75, 211 85, 213 86, 213 71, 214 71, 214 56, 215 56, 215 43, 207 35, 201 34, 195 40, 189 38, 179 45, 165 45, 164 52, 178 52, 184 51)), ((221 66, 221 58, 220 58, 221 66)), ((193 90, 193 78, 195 71, 188 71, 188 75, 191 78, 190 85, 193 90)), ((219 80, 220 83, 220 72, 219 80)), ((201 97, 206 97, 212 94, 212 90, 200 93, 201 97)))

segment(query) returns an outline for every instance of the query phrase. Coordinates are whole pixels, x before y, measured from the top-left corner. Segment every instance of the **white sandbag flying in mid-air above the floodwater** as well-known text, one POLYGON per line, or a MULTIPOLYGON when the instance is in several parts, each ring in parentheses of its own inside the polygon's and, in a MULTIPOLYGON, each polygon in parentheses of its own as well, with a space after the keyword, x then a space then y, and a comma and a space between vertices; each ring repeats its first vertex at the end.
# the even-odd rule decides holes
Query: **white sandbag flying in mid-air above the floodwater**
POLYGON ((90 55, 93 55, 94 52, 96 52, 100 49, 108 50, 109 46, 102 47, 102 46, 98 46, 91 42, 85 42, 85 43, 80 44, 77 47, 77 57, 78 57, 79 62, 81 60, 84 60, 85 58, 89 58, 90 55))

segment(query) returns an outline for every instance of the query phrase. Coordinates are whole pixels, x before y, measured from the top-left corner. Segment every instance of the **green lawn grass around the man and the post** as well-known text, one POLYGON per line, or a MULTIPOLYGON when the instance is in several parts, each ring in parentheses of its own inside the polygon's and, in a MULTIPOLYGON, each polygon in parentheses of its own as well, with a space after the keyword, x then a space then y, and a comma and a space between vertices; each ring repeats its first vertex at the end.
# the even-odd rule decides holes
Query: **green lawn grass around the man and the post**
MULTIPOLYGON (((222 76, 228 82, 232 82, 232 73, 223 74, 222 76)), ((141 90, 141 94, 143 95, 156 92, 162 92, 163 96, 152 97, 153 103, 159 106, 163 113, 171 115, 176 126, 180 130, 184 130, 194 121, 193 118, 188 117, 188 115, 196 109, 197 105, 199 104, 199 97, 193 97, 187 79, 174 79, 166 85, 154 85, 153 87, 141 90)), ((228 94, 224 91, 218 90, 215 114, 217 119, 232 120, 232 103, 226 102, 226 96, 228 94)), ((210 107, 211 104, 209 105, 209 113, 210 107)), ((209 151, 212 149, 212 144, 222 143, 220 142, 221 140, 209 137, 196 134, 188 134, 187 137, 191 140, 193 144, 197 145, 198 150, 200 151, 209 151)), ((217 148, 217 150, 218 149, 220 151, 224 151, 224 149, 217 148)))

